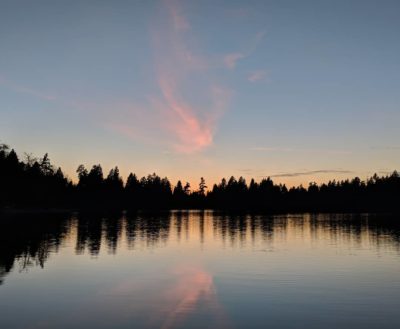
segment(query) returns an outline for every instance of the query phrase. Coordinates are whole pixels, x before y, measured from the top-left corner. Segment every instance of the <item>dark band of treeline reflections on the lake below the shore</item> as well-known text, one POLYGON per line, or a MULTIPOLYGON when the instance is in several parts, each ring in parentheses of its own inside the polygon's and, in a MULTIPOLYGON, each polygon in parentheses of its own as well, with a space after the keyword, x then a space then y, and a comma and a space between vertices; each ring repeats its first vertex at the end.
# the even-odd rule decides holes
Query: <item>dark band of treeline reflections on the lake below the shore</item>
MULTIPOLYGON (((109 253, 117 253, 121 242, 128 249, 135 249, 138 243, 156 248, 167 244, 173 237, 178 241, 199 239, 201 244, 208 240, 218 240, 232 247, 257 239, 273 244, 277 235, 290 235, 294 231, 296 234, 307 233, 313 240, 327 237, 332 241, 350 239, 355 244, 361 244, 368 239, 376 248, 390 245, 396 250, 399 250, 400 245, 400 221, 392 215, 266 216, 171 211, 157 214, 3 216, 0 218, 0 284, 11 270, 44 267, 47 259, 58 252, 65 239, 73 236, 72 232, 76 232, 76 254, 87 252, 96 256, 102 248, 106 248, 109 253)), ((193 274, 193 270, 183 270, 180 273, 186 273, 183 275, 185 280, 204 279, 204 285, 200 285, 198 291, 188 293, 188 296, 200 296, 211 289, 211 279, 207 281, 205 273, 200 271, 193 274)), ((183 298, 179 305, 190 304, 191 298, 183 298)))

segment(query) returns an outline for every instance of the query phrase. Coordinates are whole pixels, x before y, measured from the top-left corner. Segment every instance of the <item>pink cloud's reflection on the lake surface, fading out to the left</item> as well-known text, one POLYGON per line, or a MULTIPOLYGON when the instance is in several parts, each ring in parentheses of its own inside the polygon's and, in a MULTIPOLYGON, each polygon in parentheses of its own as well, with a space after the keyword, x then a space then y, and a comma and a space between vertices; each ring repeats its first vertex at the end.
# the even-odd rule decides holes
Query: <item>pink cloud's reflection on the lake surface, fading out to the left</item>
MULTIPOLYGON (((89 309, 111 322, 135 319, 146 328, 230 328, 214 279, 201 265, 178 265, 149 276, 115 282, 91 301, 89 309), (93 307, 95 306, 95 307, 93 307)), ((87 310, 76 317, 87 316, 87 310)))

